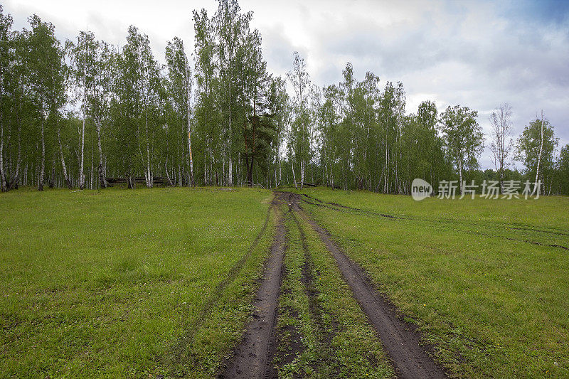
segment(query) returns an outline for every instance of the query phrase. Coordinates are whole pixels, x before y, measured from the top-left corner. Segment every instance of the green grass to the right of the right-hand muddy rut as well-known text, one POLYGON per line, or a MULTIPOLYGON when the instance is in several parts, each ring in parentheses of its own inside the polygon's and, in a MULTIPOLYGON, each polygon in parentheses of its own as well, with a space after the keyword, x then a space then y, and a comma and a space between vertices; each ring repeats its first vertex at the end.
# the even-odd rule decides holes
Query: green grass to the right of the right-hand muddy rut
POLYGON ((467 378, 569 376, 569 198, 493 201, 321 188, 304 204, 467 378))

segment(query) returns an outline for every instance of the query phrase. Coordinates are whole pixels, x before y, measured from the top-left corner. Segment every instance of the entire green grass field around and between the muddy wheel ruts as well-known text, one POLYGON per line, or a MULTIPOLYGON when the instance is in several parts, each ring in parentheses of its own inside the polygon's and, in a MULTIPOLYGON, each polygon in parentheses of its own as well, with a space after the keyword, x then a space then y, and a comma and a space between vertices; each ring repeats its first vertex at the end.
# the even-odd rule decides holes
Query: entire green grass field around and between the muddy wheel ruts
MULTIPOLYGON (((299 192, 299 191, 297 191, 299 192)), ((569 377, 569 198, 300 203, 462 378, 569 377)), ((0 378, 211 378, 241 341, 283 218, 270 364, 390 378, 334 257, 270 191, 2 193, 0 378)))

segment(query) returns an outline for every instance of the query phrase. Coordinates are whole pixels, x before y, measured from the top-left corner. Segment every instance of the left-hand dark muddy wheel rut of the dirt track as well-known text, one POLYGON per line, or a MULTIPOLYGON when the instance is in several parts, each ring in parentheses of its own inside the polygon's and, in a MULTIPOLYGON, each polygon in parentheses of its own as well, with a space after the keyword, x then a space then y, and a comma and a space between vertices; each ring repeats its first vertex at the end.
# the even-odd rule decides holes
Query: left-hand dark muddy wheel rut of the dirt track
POLYGON ((282 214, 277 209, 277 234, 265 262, 265 272, 253 302, 253 319, 247 326, 241 343, 235 348, 231 361, 220 378, 276 378, 272 367, 275 354, 275 325, 277 304, 283 273, 286 230, 282 214))

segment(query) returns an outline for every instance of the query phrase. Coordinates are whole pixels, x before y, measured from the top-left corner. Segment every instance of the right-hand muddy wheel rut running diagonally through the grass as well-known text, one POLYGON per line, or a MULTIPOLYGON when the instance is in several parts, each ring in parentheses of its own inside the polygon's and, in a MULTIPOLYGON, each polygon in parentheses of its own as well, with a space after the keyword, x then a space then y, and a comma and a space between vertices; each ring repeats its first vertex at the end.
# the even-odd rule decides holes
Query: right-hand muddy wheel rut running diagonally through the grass
POLYGON ((420 333, 410 324, 398 319, 395 307, 373 287, 366 272, 349 260, 341 247, 332 240, 331 235, 304 212, 299 205, 301 196, 288 193, 287 201, 307 220, 331 252, 361 309, 378 332, 398 378, 447 378, 445 371, 429 356, 427 348, 421 346, 420 333))

